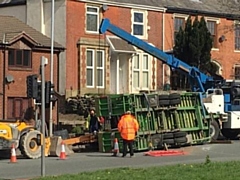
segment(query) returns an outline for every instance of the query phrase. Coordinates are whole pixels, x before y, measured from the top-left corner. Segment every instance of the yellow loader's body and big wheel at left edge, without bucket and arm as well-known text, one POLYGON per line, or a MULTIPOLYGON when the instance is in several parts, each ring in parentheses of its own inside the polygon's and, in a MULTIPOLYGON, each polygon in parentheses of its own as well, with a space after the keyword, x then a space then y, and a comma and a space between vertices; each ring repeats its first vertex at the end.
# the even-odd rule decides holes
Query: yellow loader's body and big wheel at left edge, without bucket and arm
MULTIPOLYGON (((41 157, 41 132, 34 125, 24 121, 0 122, 0 150, 10 150, 12 145, 30 159, 41 157)), ((50 149, 50 138, 45 138, 45 155, 50 149)))

